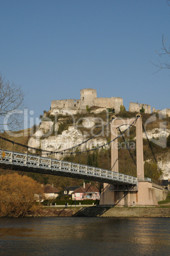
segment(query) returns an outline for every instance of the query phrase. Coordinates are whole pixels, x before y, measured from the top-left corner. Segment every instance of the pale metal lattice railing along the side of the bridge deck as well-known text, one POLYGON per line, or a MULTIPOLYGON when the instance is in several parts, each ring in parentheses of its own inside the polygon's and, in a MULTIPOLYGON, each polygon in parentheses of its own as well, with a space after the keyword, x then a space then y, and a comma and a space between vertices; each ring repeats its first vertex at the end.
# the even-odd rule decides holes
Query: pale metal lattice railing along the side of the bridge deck
POLYGON ((48 157, 40 157, 38 155, 30 155, 27 153, 11 152, 0 149, 0 163, 11 164, 15 166, 33 167, 39 169, 48 169, 52 171, 63 171, 65 173, 81 174, 90 177, 99 177, 110 181, 121 181, 122 183, 136 185, 138 179, 133 176, 108 171, 99 167, 86 166, 76 164, 64 160, 50 159, 48 157))

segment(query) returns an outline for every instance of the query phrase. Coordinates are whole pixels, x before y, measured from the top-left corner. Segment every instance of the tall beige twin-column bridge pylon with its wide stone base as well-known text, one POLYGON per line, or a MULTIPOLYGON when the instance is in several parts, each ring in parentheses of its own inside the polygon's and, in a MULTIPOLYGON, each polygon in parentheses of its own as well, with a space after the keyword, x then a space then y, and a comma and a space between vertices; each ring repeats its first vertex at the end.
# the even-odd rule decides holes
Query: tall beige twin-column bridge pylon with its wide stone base
POLYGON ((166 193, 164 188, 152 183, 151 179, 144 175, 143 160, 143 127, 142 117, 138 113, 135 118, 119 119, 113 116, 111 122, 111 171, 118 172, 118 128, 122 125, 136 127, 136 169, 138 188, 122 185, 110 185, 104 183, 101 193, 101 205, 136 206, 157 205, 158 201, 164 200, 166 193))

